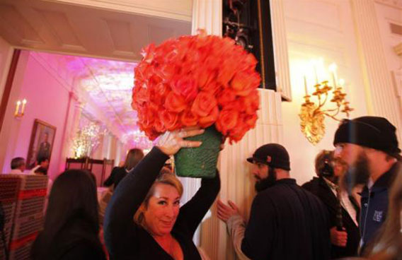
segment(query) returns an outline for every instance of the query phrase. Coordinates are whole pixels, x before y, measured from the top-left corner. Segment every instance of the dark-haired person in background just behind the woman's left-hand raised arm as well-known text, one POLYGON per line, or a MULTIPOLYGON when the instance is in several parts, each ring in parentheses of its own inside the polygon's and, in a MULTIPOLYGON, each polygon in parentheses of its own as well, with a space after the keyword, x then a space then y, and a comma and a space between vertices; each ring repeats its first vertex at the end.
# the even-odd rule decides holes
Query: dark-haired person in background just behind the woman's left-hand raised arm
POLYGON ((114 167, 108 179, 103 182, 103 185, 106 187, 110 187, 114 185, 113 188, 117 187, 117 184, 130 172, 134 169, 135 165, 144 158, 144 153, 141 149, 132 148, 128 151, 125 164, 122 167, 114 167))

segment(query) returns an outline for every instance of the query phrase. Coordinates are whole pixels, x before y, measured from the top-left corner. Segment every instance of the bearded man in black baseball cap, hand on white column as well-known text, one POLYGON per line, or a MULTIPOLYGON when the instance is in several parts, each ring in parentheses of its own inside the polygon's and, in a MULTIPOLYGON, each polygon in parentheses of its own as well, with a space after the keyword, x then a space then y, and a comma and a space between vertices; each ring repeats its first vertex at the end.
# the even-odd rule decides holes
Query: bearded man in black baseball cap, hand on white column
POLYGON ((235 203, 218 200, 218 218, 229 230, 240 259, 329 259, 328 212, 290 178, 287 150, 268 143, 253 153, 258 191, 246 225, 235 203))

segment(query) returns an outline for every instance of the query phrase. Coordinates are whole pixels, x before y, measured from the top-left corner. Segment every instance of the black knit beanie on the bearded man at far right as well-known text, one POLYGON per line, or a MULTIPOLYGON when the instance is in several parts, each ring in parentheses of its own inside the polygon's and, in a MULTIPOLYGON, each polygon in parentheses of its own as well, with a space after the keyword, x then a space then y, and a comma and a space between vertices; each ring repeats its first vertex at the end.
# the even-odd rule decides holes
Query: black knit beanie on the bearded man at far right
POLYGON ((394 158, 401 159, 396 128, 384 117, 357 117, 344 119, 335 132, 333 145, 354 143, 376 150, 382 150, 394 158))

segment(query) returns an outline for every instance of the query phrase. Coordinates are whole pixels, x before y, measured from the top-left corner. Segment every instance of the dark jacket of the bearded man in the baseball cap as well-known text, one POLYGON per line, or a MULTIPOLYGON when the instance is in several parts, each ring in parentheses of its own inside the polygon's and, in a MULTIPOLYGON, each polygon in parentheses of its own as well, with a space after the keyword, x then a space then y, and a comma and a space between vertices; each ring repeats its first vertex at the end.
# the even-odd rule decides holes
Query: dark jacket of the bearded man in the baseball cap
POLYGON ((255 196, 241 251, 250 259, 326 260, 328 227, 323 203, 294 179, 280 179, 255 196))

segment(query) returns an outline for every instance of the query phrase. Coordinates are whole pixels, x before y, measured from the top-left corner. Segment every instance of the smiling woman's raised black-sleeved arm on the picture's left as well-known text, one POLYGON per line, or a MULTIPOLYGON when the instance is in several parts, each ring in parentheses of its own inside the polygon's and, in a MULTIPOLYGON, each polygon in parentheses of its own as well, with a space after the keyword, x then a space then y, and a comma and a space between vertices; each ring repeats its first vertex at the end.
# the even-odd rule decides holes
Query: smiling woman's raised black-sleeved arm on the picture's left
POLYGON ((112 255, 124 252, 125 247, 135 243, 134 213, 167 159, 168 155, 159 148, 152 148, 115 189, 103 224, 105 244, 112 255))

